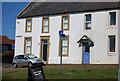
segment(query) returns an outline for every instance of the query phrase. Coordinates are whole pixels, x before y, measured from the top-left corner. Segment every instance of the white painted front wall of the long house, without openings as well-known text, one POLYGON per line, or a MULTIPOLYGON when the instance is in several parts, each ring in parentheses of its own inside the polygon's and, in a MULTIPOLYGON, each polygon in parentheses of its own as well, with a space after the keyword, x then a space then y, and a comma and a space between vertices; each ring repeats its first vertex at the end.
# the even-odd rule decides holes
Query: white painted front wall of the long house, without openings
MULTIPOLYGON (((118 10, 117 21, 118 21, 118 10)), ((92 29, 85 30, 84 15, 87 13, 70 14, 70 30, 65 31, 69 35, 69 54, 63 57, 64 64, 81 64, 82 47, 78 47, 77 41, 87 35, 95 44, 91 47, 90 64, 118 64, 118 22, 114 27, 109 26, 109 12, 90 12, 92 14, 92 29), (116 35, 116 52, 108 54, 108 35, 116 35)), ((59 64, 59 33, 61 29, 61 15, 50 16, 50 33, 41 33, 42 17, 32 18, 32 32, 25 33, 25 19, 17 19, 15 55, 24 53, 24 37, 32 37, 32 54, 40 56, 40 36, 50 36, 50 49, 48 64, 59 64)))

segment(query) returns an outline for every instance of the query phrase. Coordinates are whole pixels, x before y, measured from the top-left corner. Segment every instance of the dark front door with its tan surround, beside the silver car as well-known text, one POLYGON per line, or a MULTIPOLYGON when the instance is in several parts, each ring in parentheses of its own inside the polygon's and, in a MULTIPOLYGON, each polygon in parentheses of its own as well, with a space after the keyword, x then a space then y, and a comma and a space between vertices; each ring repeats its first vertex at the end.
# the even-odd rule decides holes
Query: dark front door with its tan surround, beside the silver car
POLYGON ((48 62, 48 54, 49 54, 49 38, 42 37, 41 38, 41 55, 40 57, 47 63, 48 62))

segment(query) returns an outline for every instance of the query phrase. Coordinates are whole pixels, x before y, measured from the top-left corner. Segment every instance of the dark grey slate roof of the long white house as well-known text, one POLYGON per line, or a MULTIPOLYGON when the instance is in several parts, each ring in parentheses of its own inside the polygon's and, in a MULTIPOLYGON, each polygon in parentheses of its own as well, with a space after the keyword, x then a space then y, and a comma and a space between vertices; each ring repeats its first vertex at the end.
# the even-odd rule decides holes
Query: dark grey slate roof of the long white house
POLYGON ((120 9, 120 2, 31 2, 17 18, 120 9))

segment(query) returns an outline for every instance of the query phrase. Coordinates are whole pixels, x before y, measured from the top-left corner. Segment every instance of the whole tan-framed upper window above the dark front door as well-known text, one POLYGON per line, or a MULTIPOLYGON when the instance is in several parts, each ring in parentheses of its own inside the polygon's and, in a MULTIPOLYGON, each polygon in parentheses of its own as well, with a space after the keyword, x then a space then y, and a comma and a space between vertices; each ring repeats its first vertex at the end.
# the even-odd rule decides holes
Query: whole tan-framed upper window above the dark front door
POLYGON ((42 33, 49 33, 49 17, 43 17, 42 33))

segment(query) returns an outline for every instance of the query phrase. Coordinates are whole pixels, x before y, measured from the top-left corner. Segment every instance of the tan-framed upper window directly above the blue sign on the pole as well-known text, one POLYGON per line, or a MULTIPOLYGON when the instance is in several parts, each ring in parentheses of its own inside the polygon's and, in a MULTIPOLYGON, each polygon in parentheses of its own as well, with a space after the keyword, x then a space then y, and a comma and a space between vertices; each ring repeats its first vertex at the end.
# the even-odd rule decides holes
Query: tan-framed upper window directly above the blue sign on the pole
POLYGON ((62 30, 69 30, 69 15, 62 16, 62 30))

